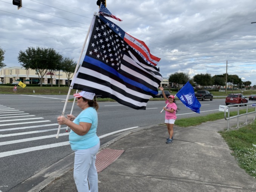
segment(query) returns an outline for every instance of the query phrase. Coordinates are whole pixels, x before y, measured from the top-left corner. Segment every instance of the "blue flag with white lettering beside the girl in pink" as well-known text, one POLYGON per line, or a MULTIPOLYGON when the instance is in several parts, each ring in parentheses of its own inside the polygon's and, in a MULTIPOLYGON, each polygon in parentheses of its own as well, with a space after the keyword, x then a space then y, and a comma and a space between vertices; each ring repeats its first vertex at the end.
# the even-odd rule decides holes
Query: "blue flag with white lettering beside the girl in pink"
POLYGON ((200 113, 201 103, 195 97, 194 88, 189 81, 177 92, 176 96, 188 109, 200 113))

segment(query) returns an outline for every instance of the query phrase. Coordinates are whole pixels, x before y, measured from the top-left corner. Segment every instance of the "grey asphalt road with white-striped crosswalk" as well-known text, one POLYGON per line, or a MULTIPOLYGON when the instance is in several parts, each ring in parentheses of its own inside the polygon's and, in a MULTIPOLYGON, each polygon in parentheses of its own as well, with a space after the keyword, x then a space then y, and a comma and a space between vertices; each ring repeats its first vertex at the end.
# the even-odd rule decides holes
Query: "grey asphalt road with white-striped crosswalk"
MULTIPOLYGON (((65 95, 0 94, 0 192, 10 191, 72 153, 65 126, 56 138, 56 119, 62 114, 65 99, 65 95)), ((207 115, 225 105, 224 99, 200 102, 201 113, 196 114, 177 101, 177 118, 207 115)), ((111 132, 163 123, 163 106, 164 101, 149 101, 146 110, 135 110, 117 102, 99 103, 97 135, 103 137, 101 144, 111 132)), ((70 114, 71 108, 72 103, 67 103, 65 114, 70 114)), ((73 114, 79 112, 75 105, 73 114)))

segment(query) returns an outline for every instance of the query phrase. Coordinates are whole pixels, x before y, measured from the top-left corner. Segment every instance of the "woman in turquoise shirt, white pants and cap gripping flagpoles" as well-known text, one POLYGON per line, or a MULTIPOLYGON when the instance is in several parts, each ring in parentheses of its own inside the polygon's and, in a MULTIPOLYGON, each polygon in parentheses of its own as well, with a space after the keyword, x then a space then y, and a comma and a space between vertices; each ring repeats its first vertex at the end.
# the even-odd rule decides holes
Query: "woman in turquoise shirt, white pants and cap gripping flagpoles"
POLYGON ((90 192, 98 192, 95 161, 100 148, 100 140, 96 135, 99 105, 94 93, 81 91, 74 94, 74 97, 77 98, 77 106, 83 111, 77 117, 74 115, 67 115, 67 118, 60 116, 57 121, 71 129, 69 143, 75 152, 74 180, 78 192, 89 192, 89 186, 90 192))

